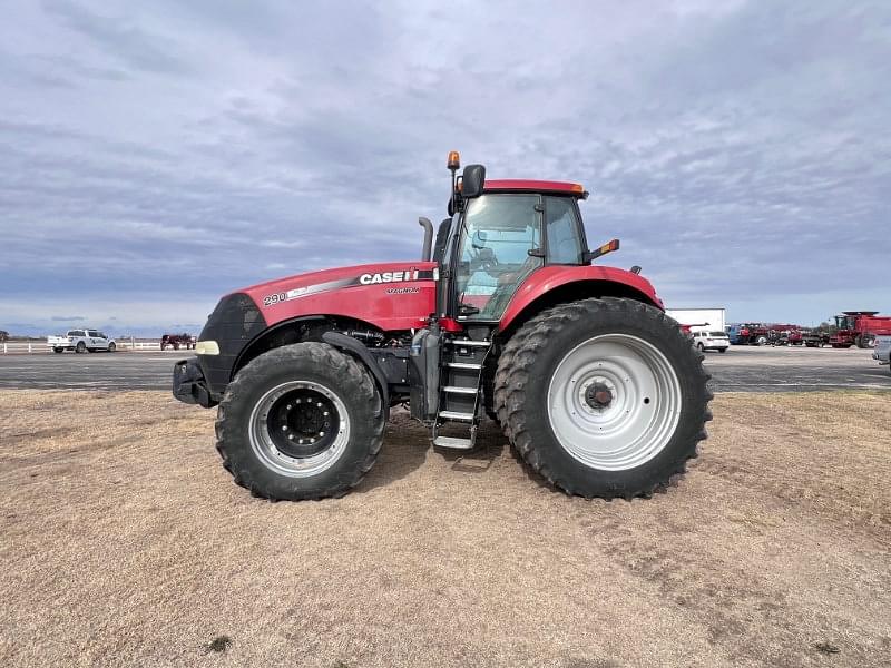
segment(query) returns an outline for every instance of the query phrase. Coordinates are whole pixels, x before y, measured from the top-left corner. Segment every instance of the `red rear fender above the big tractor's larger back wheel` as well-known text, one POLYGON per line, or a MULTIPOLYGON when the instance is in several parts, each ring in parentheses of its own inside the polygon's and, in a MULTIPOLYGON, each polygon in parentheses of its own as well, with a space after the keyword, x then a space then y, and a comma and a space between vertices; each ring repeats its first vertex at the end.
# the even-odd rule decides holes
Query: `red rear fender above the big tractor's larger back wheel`
POLYGON ((589 297, 627 297, 665 311, 653 284, 625 269, 604 266, 546 266, 520 285, 498 324, 501 332, 516 328, 536 313, 589 297))

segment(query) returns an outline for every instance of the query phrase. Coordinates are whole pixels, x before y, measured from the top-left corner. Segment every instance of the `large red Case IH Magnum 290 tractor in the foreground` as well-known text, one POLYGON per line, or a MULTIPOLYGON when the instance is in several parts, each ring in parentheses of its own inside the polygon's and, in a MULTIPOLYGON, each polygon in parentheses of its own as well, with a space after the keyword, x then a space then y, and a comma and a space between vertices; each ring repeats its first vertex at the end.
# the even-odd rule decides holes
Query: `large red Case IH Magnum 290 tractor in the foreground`
POLYGON ((591 264, 578 184, 457 177, 420 261, 298 274, 221 299, 174 395, 218 405, 216 448, 268 499, 339 497, 392 406, 469 450, 489 415, 529 465, 582 497, 649 497, 711 419, 703 355, 639 267, 591 264))

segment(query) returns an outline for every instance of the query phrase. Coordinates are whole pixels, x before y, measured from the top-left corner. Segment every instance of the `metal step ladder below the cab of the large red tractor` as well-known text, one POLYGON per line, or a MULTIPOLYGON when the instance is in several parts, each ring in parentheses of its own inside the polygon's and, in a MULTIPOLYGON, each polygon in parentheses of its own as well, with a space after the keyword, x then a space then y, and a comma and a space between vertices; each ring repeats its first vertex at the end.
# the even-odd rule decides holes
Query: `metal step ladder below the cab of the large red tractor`
POLYGON ((482 369, 492 348, 491 341, 443 338, 439 413, 433 424, 433 445, 472 450, 482 412, 482 369), (443 425, 459 426, 460 436, 438 433, 443 425))

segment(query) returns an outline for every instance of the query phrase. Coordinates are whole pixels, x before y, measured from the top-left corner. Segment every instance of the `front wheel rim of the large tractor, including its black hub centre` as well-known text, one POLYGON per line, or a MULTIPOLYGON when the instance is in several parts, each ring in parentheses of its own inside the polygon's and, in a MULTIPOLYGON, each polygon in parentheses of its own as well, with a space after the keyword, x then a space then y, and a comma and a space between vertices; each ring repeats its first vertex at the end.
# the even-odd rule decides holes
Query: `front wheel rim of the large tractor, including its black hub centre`
POLYGON ((268 469, 310 478, 330 469, 350 440, 350 416, 334 392, 311 381, 290 381, 254 405, 251 448, 268 469))

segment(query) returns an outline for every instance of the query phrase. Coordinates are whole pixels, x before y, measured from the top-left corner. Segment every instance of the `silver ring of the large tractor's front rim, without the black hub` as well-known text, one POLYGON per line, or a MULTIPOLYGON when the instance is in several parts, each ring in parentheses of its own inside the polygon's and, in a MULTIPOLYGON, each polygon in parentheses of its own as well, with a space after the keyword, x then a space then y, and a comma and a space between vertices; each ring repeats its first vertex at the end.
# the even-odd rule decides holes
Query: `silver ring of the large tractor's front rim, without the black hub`
MULTIPOLYGON (((301 401, 303 400, 301 399, 301 401)), ((298 402, 295 400, 295 403, 298 402)), ((284 426, 282 425, 282 428, 284 426)), ((266 392, 254 405, 254 410, 251 412, 249 439, 254 454, 267 469, 290 478, 311 478, 333 466, 345 452, 346 443, 350 440, 350 415, 341 397, 324 385, 312 381, 290 381, 266 392), (331 443, 322 452, 310 456, 293 456, 276 445, 276 439, 271 433, 270 414, 282 400, 293 393, 303 396, 305 396, 304 393, 319 395, 324 397, 322 401, 326 400, 336 410, 334 420, 336 423, 329 428, 332 436, 331 443)))

